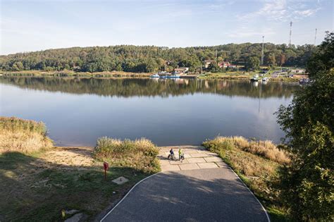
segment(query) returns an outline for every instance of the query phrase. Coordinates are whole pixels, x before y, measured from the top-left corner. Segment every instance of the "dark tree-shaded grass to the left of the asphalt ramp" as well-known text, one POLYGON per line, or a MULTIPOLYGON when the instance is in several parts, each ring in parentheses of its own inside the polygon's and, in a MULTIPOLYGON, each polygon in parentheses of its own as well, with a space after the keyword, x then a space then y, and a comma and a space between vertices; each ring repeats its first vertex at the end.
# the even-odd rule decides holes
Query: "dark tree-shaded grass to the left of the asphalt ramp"
POLYGON ((102 166, 51 164, 38 154, 6 152, 0 154, 0 221, 61 221, 61 209, 78 209, 92 221, 147 175, 111 167, 104 180, 102 166), (111 182, 120 175, 129 182, 111 182))

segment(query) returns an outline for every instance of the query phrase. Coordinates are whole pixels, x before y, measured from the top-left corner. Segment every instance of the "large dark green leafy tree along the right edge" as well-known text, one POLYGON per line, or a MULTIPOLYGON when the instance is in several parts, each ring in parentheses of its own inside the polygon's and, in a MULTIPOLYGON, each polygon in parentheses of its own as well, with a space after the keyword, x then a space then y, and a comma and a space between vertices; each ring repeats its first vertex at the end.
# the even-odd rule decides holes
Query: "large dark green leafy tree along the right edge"
POLYGON ((297 220, 334 220, 334 34, 314 52, 313 81, 278 110, 292 163, 281 171, 282 197, 297 220))

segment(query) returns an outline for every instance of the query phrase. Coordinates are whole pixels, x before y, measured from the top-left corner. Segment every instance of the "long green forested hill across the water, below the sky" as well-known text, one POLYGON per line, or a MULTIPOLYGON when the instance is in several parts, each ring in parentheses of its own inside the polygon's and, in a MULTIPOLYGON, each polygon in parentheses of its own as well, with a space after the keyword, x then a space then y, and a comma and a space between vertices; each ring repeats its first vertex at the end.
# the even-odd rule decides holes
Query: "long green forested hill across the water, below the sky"
MULTIPOLYGON (((266 43, 264 64, 268 66, 305 66, 314 46, 287 47, 266 43)), ((190 67, 196 70, 206 59, 242 65, 250 57, 261 57, 261 44, 224 44, 214 47, 168 48, 132 45, 111 47, 74 47, 49 49, 0 56, 1 70, 75 70, 84 72, 154 72, 190 67)))

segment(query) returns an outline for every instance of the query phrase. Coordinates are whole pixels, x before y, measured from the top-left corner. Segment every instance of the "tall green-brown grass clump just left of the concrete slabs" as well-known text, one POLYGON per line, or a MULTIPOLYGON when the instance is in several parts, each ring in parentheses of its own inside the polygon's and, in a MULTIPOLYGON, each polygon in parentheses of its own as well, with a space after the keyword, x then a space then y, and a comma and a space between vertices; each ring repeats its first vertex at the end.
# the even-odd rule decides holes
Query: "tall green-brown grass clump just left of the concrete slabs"
POLYGON ((145 173, 160 170, 156 156, 159 149, 150 140, 117 140, 100 137, 94 148, 94 157, 100 161, 110 161, 114 166, 135 168, 145 173))

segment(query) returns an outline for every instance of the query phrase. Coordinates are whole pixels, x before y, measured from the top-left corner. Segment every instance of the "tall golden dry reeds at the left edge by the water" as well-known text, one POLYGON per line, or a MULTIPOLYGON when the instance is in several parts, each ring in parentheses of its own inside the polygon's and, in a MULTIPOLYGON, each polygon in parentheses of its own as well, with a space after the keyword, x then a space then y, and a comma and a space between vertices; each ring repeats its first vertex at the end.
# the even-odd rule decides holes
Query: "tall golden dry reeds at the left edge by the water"
POLYGON ((44 123, 16 117, 0 117, 0 153, 30 153, 52 146, 44 123))

